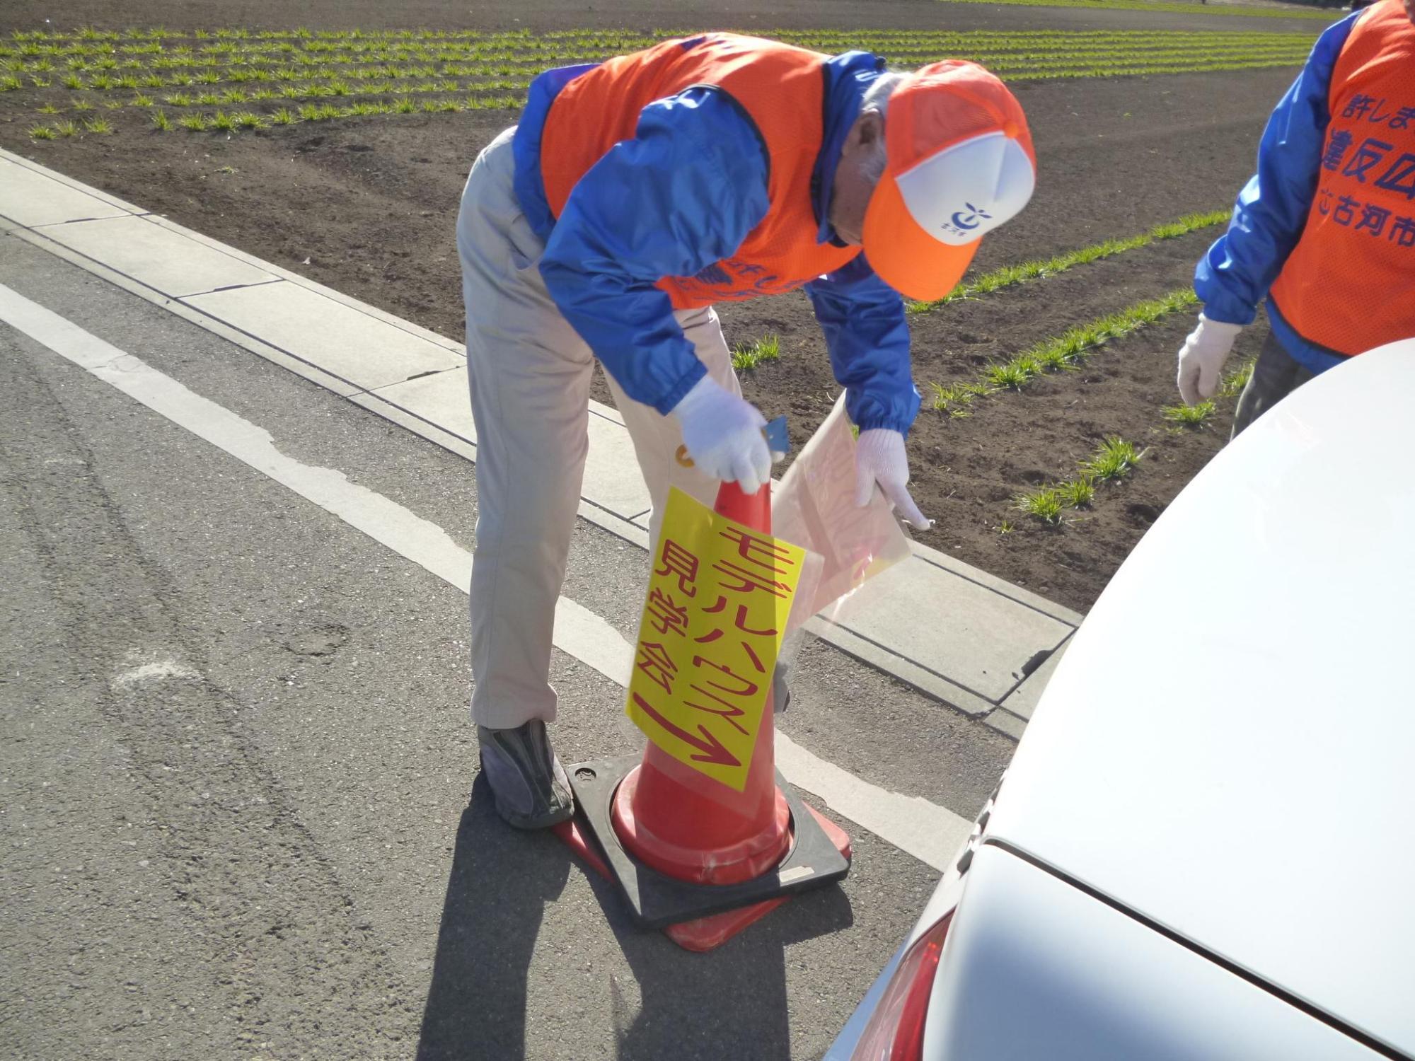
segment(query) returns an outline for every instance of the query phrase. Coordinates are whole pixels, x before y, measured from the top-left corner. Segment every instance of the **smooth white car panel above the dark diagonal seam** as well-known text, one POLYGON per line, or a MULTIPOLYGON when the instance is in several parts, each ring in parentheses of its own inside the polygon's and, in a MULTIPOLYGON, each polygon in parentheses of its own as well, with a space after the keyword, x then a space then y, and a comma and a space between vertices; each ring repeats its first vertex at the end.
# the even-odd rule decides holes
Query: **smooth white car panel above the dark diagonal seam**
POLYGON ((1415 1055, 1412 457, 1415 340, 1225 447, 1077 632, 988 833, 1415 1055))

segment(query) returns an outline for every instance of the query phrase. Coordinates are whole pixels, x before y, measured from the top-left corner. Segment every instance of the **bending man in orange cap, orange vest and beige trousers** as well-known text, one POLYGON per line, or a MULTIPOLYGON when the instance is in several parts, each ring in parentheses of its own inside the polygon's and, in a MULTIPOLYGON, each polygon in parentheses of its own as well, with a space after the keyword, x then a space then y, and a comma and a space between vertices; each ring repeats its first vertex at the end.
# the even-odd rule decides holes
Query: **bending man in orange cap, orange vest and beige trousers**
POLYGON ((1036 181, 1022 108, 969 62, 893 74, 734 34, 542 74, 457 219, 477 426, 471 716, 499 813, 572 795, 546 736, 597 358, 652 498, 771 475, 713 303, 805 289, 859 427, 856 494, 917 526, 901 294, 938 298, 1036 181), (679 446, 692 468, 675 461, 679 446))

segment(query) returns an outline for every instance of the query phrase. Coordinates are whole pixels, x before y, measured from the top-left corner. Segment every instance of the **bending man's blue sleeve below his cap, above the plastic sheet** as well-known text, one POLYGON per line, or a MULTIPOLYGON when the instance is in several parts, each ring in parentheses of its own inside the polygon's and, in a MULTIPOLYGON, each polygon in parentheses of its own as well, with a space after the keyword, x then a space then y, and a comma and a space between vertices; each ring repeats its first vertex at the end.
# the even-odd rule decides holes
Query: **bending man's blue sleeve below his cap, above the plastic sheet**
POLYGON ((805 286, 825 332, 831 368, 845 388, 845 410, 863 431, 907 433, 918 413, 910 372, 904 300, 859 255, 805 286))

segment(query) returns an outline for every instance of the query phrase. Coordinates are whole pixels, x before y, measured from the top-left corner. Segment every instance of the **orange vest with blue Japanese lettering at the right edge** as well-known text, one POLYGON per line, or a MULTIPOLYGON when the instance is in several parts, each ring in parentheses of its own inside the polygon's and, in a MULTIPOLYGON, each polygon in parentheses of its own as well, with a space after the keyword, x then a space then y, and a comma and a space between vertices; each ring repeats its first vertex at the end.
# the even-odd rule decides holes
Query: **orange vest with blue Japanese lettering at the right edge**
POLYGON ((1327 106, 1317 192, 1271 294, 1303 338, 1360 354, 1415 335, 1415 25, 1399 3, 1351 28, 1327 106))

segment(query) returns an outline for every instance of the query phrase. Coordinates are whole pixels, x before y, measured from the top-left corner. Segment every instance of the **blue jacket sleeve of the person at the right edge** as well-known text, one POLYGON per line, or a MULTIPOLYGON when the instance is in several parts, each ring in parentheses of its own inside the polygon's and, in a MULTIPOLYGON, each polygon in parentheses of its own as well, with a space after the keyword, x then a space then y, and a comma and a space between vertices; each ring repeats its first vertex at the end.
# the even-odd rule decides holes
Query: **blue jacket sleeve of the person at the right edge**
POLYGON ((1194 291, 1211 320, 1251 324, 1302 236, 1332 120, 1332 69, 1358 17, 1360 11, 1343 18, 1317 38, 1298 79, 1268 119, 1258 144, 1258 173, 1238 192, 1228 231, 1194 269, 1194 291))

